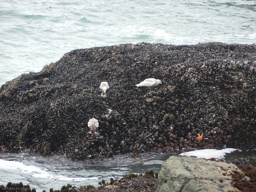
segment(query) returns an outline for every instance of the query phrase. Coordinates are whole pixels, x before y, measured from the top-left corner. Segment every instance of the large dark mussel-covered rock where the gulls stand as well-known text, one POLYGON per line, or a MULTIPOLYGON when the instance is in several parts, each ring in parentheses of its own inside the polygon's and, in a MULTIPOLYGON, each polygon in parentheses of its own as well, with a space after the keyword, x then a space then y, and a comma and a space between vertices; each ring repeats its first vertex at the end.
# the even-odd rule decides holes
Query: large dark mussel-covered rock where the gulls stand
POLYGON ((150 150, 253 149, 255 66, 256 45, 74 50, 1 87, 0 146, 88 161, 150 150), (154 92, 135 86, 146 78, 162 84, 154 92), (102 81, 110 86, 106 98, 102 81), (90 118, 98 120, 98 134, 88 133, 90 118))

